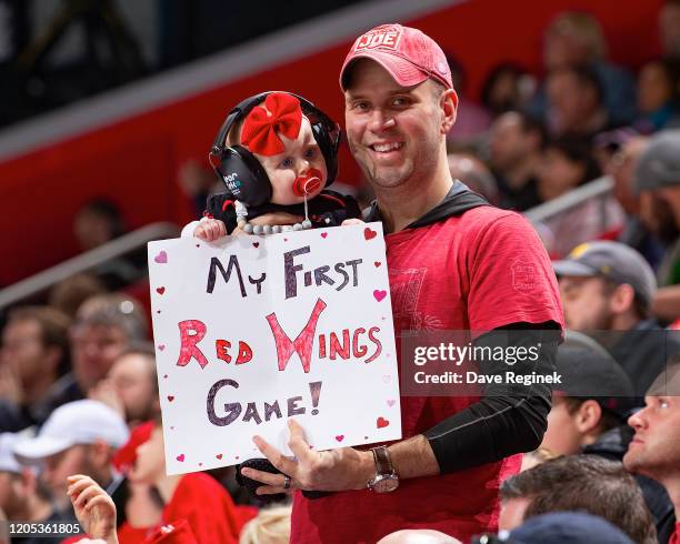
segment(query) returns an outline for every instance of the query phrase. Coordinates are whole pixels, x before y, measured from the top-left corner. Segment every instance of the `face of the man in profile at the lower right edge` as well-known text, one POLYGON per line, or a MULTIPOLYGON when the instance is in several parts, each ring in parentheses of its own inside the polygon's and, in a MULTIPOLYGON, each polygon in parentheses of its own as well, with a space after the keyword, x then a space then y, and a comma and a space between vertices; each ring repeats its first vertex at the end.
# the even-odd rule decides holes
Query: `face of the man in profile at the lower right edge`
MULTIPOLYGON (((677 394, 677 393, 676 393, 677 394)), ((631 415, 636 430, 623 456, 627 470, 662 481, 680 472, 680 397, 647 396, 644 409, 631 415)))

